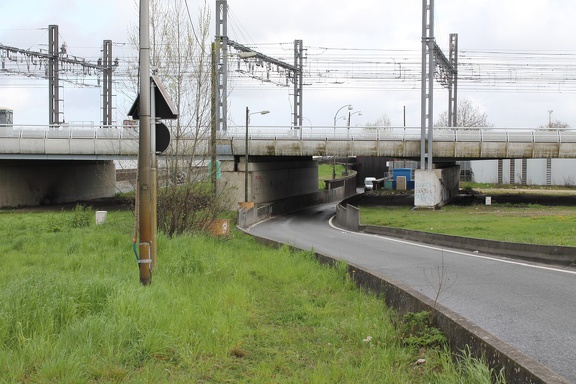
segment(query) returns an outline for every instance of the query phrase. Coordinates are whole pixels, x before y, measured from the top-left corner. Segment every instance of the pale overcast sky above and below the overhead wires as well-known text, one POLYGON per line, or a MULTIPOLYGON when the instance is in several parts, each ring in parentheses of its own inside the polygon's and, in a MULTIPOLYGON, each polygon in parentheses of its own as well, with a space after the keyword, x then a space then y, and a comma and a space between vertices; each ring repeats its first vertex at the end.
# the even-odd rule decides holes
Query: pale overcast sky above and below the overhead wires
MULTIPOLYGON (((172 1, 172 0, 165 0, 172 1)), ((184 1, 184 0, 177 0, 184 1)), ((195 13, 203 1, 188 0, 195 13)), ((215 1, 209 6, 214 9, 215 1)), ((229 0, 230 39, 245 45, 291 43, 303 40, 309 53, 319 47, 366 50, 421 49, 421 0, 229 0)), ((100 56, 102 41, 112 40, 114 56, 120 60, 134 57, 128 45, 127 32, 138 21, 135 0, 2 0, 0 43, 8 46, 46 49, 50 24, 59 26, 60 42, 68 51, 91 60, 100 56)), ((465 51, 562 51, 576 52, 576 3, 573 0, 436 0, 435 37, 448 54, 450 33, 458 33, 459 50, 465 51)), ((213 17, 214 18, 214 17, 213 17)), ((211 35, 215 27, 211 27, 211 35)), ((526 65, 534 63, 526 57, 526 65)), ((435 86, 437 116, 447 109, 446 93, 435 86)), ((289 125, 292 111, 291 88, 257 84, 249 90, 232 91, 230 124, 241 126, 246 106, 251 111, 270 110, 266 116, 254 117, 253 124, 289 125), (257 121, 256 121, 257 119, 257 121)), ((460 98, 468 98, 480 107, 497 127, 530 127, 553 119, 576 127, 573 101, 576 92, 487 92, 466 89, 460 98)), ((16 124, 46 124, 48 120, 48 86, 46 80, 7 76, 0 73, 0 106, 14 109, 16 124)), ((304 125, 331 126, 336 111, 352 104, 352 125, 376 121, 386 114, 392 125, 420 125, 420 90, 362 90, 343 86, 329 89, 304 88, 304 125)), ((100 90, 64 85, 66 121, 101 120, 100 90)), ((116 120, 126 113, 126 103, 118 103, 116 120)), ((344 124, 344 123, 342 123, 344 124)))

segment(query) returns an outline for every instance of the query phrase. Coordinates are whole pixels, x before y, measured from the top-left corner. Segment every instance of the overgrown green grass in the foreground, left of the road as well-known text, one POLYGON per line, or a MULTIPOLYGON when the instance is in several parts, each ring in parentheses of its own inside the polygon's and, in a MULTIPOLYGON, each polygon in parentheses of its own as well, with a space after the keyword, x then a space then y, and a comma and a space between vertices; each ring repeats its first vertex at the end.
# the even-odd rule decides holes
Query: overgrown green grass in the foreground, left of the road
POLYGON ((469 356, 405 343, 341 264, 234 231, 160 235, 143 287, 133 214, 92 213, 0 212, 0 382, 490 383, 469 356))

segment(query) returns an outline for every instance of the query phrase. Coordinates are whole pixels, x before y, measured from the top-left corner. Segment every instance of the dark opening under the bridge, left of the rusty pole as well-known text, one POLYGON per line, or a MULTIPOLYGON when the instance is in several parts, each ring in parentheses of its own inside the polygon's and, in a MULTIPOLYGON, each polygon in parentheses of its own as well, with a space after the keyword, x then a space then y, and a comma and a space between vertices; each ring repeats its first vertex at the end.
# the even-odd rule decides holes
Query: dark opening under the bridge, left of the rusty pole
POLYGON ((114 196, 113 161, 0 160, 0 207, 114 196))

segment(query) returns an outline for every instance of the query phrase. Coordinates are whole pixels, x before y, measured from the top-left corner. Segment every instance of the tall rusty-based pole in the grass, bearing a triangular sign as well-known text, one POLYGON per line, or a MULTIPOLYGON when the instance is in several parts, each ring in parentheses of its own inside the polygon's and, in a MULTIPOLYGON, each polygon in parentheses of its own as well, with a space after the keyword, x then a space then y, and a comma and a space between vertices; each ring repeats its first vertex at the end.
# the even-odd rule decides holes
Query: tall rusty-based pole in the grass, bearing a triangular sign
POLYGON ((140 137, 138 147, 140 283, 152 282, 152 142, 150 125, 150 11, 149 0, 140 0, 140 137))

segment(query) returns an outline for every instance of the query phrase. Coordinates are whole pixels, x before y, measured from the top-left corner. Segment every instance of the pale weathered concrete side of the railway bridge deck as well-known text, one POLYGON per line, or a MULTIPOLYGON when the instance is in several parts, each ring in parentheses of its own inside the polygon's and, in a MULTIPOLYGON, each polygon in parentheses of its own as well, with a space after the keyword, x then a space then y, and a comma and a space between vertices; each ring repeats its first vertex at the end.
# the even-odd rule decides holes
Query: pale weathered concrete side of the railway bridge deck
MULTIPOLYGON (((220 155, 245 155, 245 130, 229 130, 219 135, 217 147, 220 155)), ((209 148, 206 140, 196 146, 197 154, 209 155, 209 148)), ((418 159, 420 128, 318 127, 300 131, 287 127, 251 127, 248 151, 252 156, 418 159)), ((432 154, 438 162, 576 158, 576 130, 437 128, 432 154)), ((0 159, 112 160, 137 155, 138 127, 134 126, 0 127, 0 159)))

